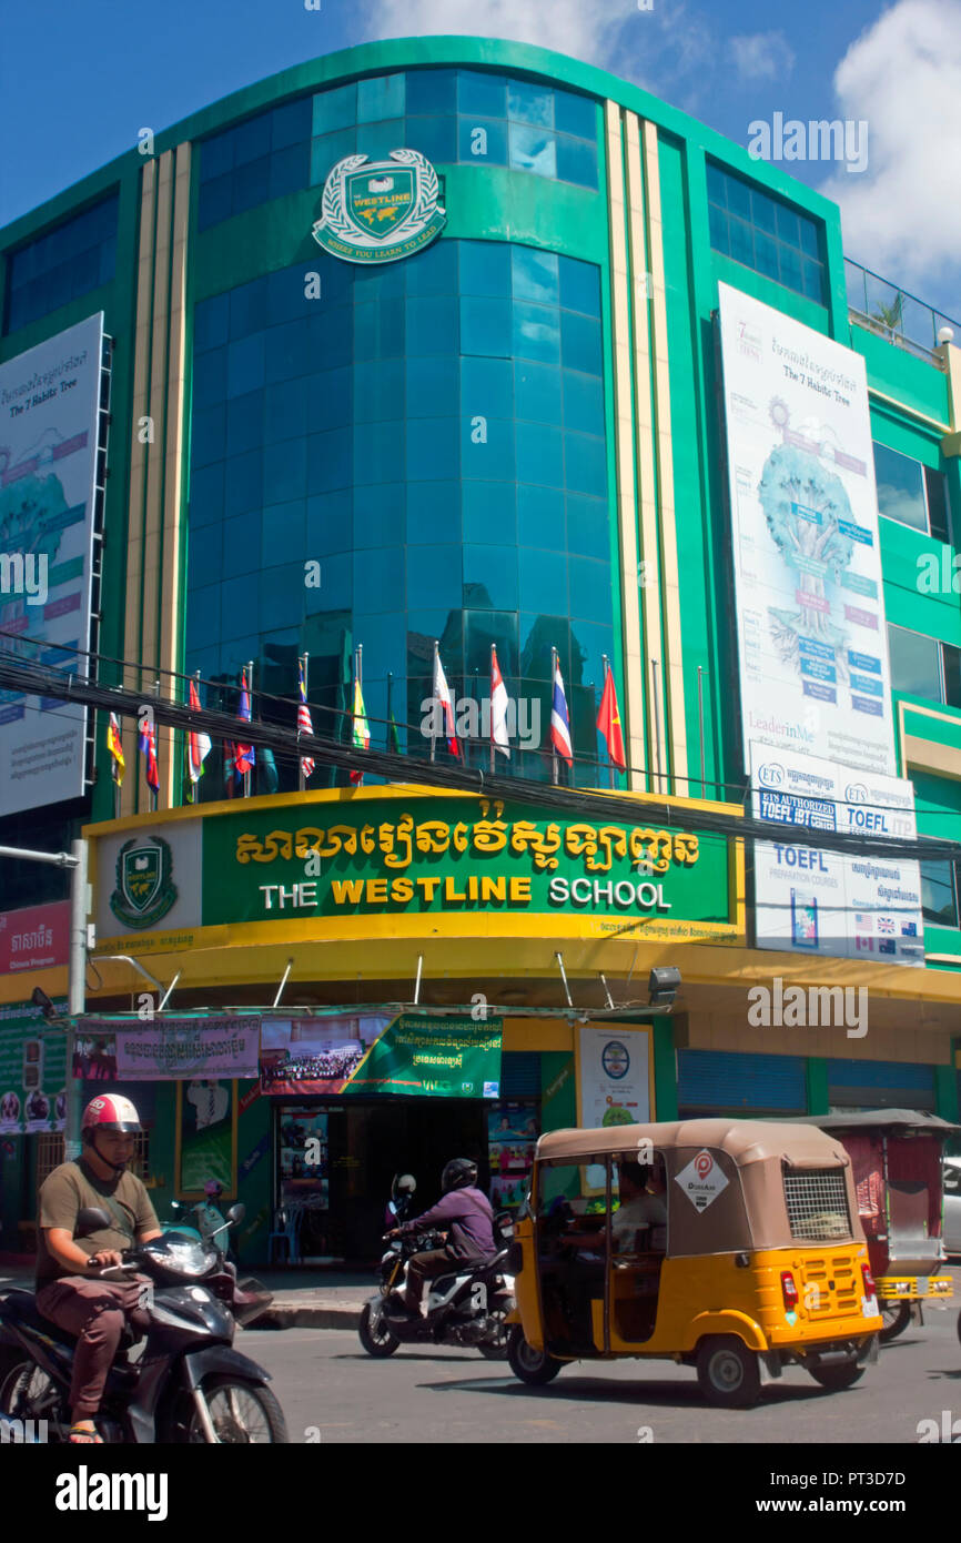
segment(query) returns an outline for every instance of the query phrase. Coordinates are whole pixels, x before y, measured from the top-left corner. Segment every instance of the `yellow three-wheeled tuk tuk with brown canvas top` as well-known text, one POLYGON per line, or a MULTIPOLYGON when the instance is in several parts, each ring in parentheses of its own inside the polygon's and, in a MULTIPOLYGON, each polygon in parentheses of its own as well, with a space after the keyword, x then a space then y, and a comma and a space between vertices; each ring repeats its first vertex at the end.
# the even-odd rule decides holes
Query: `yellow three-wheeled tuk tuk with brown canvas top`
POLYGON ((844 1389, 878 1358, 851 1162, 814 1126, 541 1136, 511 1268, 511 1369, 535 1386, 566 1361, 666 1358, 734 1409, 785 1364, 844 1389))

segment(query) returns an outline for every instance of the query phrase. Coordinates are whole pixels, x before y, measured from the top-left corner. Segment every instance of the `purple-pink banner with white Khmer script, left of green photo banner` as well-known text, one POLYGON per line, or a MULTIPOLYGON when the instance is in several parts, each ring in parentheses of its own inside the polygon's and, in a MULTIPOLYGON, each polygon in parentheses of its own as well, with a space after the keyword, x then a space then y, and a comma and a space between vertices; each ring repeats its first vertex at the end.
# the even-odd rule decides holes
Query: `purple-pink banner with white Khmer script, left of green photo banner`
POLYGON ((180 1082, 194 1077, 256 1077, 261 1020, 164 1018, 123 1023, 80 1018, 79 1034, 114 1035, 119 1082, 180 1082))

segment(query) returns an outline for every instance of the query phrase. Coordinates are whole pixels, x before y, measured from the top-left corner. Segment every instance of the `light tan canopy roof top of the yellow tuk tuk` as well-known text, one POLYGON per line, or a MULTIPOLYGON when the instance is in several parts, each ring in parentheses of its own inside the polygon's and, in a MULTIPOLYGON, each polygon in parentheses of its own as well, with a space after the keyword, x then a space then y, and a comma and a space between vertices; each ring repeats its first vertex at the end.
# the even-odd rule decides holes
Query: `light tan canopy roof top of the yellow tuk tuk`
POLYGON ((708 1146, 727 1153, 737 1168, 779 1159, 793 1168, 847 1165, 847 1153, 814 1123, 774 1120, 673 1120, 663 1125, 612 1125, 597 1129, 549 1131, 537 1143, 540 1162, 577 1162, 614 1154, 637 1160, 639 1145, 654 1151, 708 1146))

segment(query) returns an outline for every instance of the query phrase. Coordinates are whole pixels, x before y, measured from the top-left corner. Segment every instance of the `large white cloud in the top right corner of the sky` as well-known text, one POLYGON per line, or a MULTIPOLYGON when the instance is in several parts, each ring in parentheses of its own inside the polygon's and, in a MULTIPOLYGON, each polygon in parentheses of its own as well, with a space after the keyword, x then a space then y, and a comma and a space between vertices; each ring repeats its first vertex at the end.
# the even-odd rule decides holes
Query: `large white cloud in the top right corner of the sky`
POLYGON ((941 282, 956 315, 961 3, 899 0, 851 43, 835 89, 841 114, 868 125, 867 171, 839 168, 821 188, 841 205, 847 256, 922 298, 941 282))

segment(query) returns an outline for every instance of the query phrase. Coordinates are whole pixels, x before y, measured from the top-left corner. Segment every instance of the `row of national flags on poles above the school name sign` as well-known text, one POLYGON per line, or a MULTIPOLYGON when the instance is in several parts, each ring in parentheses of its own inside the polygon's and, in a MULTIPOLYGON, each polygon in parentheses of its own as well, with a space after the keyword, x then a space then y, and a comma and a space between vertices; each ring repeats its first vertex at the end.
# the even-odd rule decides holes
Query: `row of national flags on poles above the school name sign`
MULTIPOLYGON (((551 650, 551 674, 552 674, 552 696, 551 696, 551 734, 549 745, 551 753, 557 761, 563 761, 568 767, 574 765, 574 744, 571 738, 571 713, 568 708, 568 696, 565 691, 565 680, 560 671, 560 660, 557 650, 551 650)), ((298 733, 313 734, 313 722, 310 717, 310 707, 307 705, 307 656, 298 659, 298 714, 296 725, 298 733)), ((245 667, 241 671, 241 702, 238 707, 238 719, 242 724, 251 722, 251 696, 250 688, 253 684, 253 665, 245 667), (248 680, 248 670, 251 671, 248 680)), ((447 676, 444 673, 444 665, 440 656, 440 645, 433 645, 433 679, 432 679, 433 701, 440 705, 443 714, 443 741, 447 747, 449 755, 463 759, 461 744, 457 733, 455 719, 455 699, 447 685, 447 676)), ((400 730, 396 719, 393 716, 392 707, 392 677, 387 677, 387 747, 395 755, 400 755, 400 730)), ((202 711, 201 697, 197 694, 196 680, 190 680, 188 690, 188 705, 191 711, 202 711)), ((491 756, 500 753, 503 756, 511 756, 511 736, 507 733, 507 707, 509 696, 504 685, 504 679, 497 662, 497 648, 491 645, 491 756)), ((605 687, 600 699, 600 708, 597 713, 597 728, 605 739, 608 747, 608 758, 611 768, 619 772, 626 770, 625 742, 620 722, 620 708, 617 705, 617 691, 614 687, 614 671, 611 670, 605 657, 605 687)), ((364 707, 364 690, 362 690, 362 648, 358 647, 353 656, 353 710, 352 710, 352 744, 356 750, 367 750, 370 747, 370 722, 367 719, 367 708, 364 707)), ((120 739, 120 724, 116 713, 110 714, 106 725, 106 748, 111 755, 111 775, 116 788, 123 782, 125 759, 123 745, 120 739)), ((187 772, 187 798, 193 802, 196 796, 196 785, 204 776, 204 762, 211 750, 210 734, 205 734, 199 728, 191 728, 187 734, 187 751, 185 751, 185 772, 187 772)), ((256 747, 247 744, 242 739, 225 742, 225 759, 233 765, 234 775, 247 779, 248 773, 253 772, 256 765, 256 747)), ((154 725, 145 724, 140 727, 139 738, 139 753, 145 758, 145 776, 147 785, 151 788, 154 799, 160 787, 160 776, 157 770, 157 742, 154 725)), ((435 758, 435 741, 430 741, 430 759, 435 758)), ((316 764, 312 756, 301 756, 301 785, 305 785, 316 764)), ((557 775, 555 775, 557 779, 557 775)), ((355 787, 361 787, 364 782, 362 772, 352 772, 350 781, 355 787)), ((245 782, 245 792, 248 792, 248 784, 245 782)))

